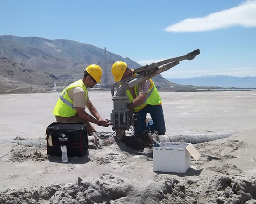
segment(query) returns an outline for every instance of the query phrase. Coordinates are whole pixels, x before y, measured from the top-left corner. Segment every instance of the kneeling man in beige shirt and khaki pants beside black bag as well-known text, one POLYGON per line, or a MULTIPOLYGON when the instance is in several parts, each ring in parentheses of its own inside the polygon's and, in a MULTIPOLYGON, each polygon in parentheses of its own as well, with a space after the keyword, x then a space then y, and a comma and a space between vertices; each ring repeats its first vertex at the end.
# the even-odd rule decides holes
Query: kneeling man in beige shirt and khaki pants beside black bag
POLYGON ((108 127, 110 122, 101 118, 97 109, 89 100, 87 92, 87 88, 93 88, 97 82, 101 82, 101 77, 102 70, 100 66, 91 64, 86 67, 83 78, 67 86, 60 94, 53 110, 56 121, 84 122, 89 135, 96 132, 89 122, 108 127), (85 111, 85 107, 88 108, 91 115, 85 111))

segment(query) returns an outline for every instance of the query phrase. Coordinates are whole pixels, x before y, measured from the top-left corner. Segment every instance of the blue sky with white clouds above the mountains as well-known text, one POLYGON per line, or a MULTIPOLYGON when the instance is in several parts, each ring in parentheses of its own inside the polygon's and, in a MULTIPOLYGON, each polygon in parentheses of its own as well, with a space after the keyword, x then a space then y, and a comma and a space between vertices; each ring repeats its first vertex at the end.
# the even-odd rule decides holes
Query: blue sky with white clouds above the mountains
POLYGON ((256 0, 0 0, 0 35, 69 39, 145 65, 200 49, 165 78, 256 76, 256 0))

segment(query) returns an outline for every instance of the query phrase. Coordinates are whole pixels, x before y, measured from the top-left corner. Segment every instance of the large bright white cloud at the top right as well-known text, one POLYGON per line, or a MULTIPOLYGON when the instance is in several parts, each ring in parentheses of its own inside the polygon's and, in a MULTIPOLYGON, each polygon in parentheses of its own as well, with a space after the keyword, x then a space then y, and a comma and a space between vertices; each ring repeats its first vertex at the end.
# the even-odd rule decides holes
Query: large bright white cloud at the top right
POLYGON ((168 26, 168 32, 201 32, 242 26, 256 27, 256 0, 248 0, 237 7, 211 13, 202 18, 187 18, 168 26))

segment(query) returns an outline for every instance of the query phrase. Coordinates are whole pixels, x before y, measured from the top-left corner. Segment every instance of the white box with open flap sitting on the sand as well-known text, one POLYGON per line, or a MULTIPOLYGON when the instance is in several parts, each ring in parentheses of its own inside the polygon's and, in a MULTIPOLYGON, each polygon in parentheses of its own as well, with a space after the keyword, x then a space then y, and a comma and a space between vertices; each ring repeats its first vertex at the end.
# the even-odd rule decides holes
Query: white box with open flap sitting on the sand
POLYGON ((153 171, 186 173, 191 166, 191 156, 201 156, 191 143, 160 142, 153 147, 153 171))

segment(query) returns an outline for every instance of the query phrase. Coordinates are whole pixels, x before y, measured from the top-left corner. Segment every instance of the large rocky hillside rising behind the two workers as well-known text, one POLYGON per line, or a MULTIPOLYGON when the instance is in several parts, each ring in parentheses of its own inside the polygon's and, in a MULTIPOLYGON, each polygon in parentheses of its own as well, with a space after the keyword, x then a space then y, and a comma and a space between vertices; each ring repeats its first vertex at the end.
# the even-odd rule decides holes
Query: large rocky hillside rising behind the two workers
MULTIPOLYGON (((141 65, 129 58, 106 52, 90 44, 72 40, 48 40, 39 37, 0 36, 0 77, 1 84, 8 83, 49 85, 55 81, 58 85, 67 85, 81 78, 84 67, 98 64, 103 71, 102 83, 109 87, 114 83, 111 66, 115 61, 124 61, 130 68, 141 65), (105 74, 105 69, 107 74, 105 74)), ((157 87, 168 88, 174 84, 161 75, 153 79, 157 87)))

